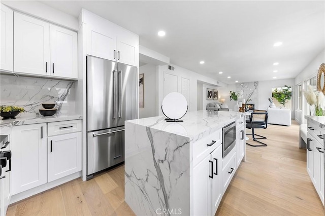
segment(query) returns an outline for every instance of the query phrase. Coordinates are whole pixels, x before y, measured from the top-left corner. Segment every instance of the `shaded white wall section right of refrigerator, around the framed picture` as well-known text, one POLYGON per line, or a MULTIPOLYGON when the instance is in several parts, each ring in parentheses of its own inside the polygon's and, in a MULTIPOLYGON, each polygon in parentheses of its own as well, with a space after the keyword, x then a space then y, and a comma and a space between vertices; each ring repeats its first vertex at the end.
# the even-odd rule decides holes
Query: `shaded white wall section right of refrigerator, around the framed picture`
POLYGON ((146 64, 139 68, 139 74, 144 74, 144 107, 139 108, 140 119, 158 115, 156 67, 156 65, 146 64))

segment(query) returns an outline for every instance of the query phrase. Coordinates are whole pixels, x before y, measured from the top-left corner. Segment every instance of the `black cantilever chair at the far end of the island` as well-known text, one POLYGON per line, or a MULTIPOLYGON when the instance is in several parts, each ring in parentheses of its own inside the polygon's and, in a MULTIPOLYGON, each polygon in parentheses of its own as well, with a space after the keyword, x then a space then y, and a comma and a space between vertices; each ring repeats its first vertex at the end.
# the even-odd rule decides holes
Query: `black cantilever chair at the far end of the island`
POLYGON ((246 135, 252 135, 253 141, 261 143, 261 145, 251 145, 246 142, 247 145, 252 147, 263 147, 268 146, 266 143, 261 142, 257 139, 266 139, 265 136, 261 136, 258 134, 255 134, 254 129, 256 128, 262 128, 266 129, 268 127, 268 113, 266 111, 260 111, 260 110, 254 110, 253 113, 250 114, 249 119, 246 119, 246 128, 252 129, 252 133, 247 133, 246 135), (259 138, 256 138, 255 136, 258 136, 259 138))

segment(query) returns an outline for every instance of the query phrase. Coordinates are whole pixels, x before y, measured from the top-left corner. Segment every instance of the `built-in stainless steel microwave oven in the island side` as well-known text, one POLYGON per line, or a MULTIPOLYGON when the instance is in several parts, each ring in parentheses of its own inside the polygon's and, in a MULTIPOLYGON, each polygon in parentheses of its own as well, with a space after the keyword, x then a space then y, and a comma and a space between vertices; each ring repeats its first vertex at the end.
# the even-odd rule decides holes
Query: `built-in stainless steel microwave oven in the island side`
POLYGON ((236 122, 222 128, 222 157, 224 158, 236 146, 236 122))

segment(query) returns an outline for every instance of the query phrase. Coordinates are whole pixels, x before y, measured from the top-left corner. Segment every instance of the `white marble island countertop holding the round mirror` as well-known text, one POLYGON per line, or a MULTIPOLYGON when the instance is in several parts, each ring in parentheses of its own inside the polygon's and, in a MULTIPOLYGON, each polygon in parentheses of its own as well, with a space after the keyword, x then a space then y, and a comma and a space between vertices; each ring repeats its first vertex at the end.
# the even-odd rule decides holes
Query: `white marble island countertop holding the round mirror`
POLYGON ((194 111, 187 113, 184 122, 166 122, 165 116, 129 120, 126 122, 142 125, 192 139, 202 138, 223 126, 236 121, 245 113, 225 111, 194 111))

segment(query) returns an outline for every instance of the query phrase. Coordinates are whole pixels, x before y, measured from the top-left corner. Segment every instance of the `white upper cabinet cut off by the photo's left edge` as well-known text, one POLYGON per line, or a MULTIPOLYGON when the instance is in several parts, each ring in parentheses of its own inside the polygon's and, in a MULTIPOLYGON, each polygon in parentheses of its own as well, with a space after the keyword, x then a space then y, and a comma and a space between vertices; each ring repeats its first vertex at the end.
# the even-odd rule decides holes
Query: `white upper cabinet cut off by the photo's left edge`
POLYGON ((0 7, 0 70, 14 69, 13 11, 1 4, 0 7))

